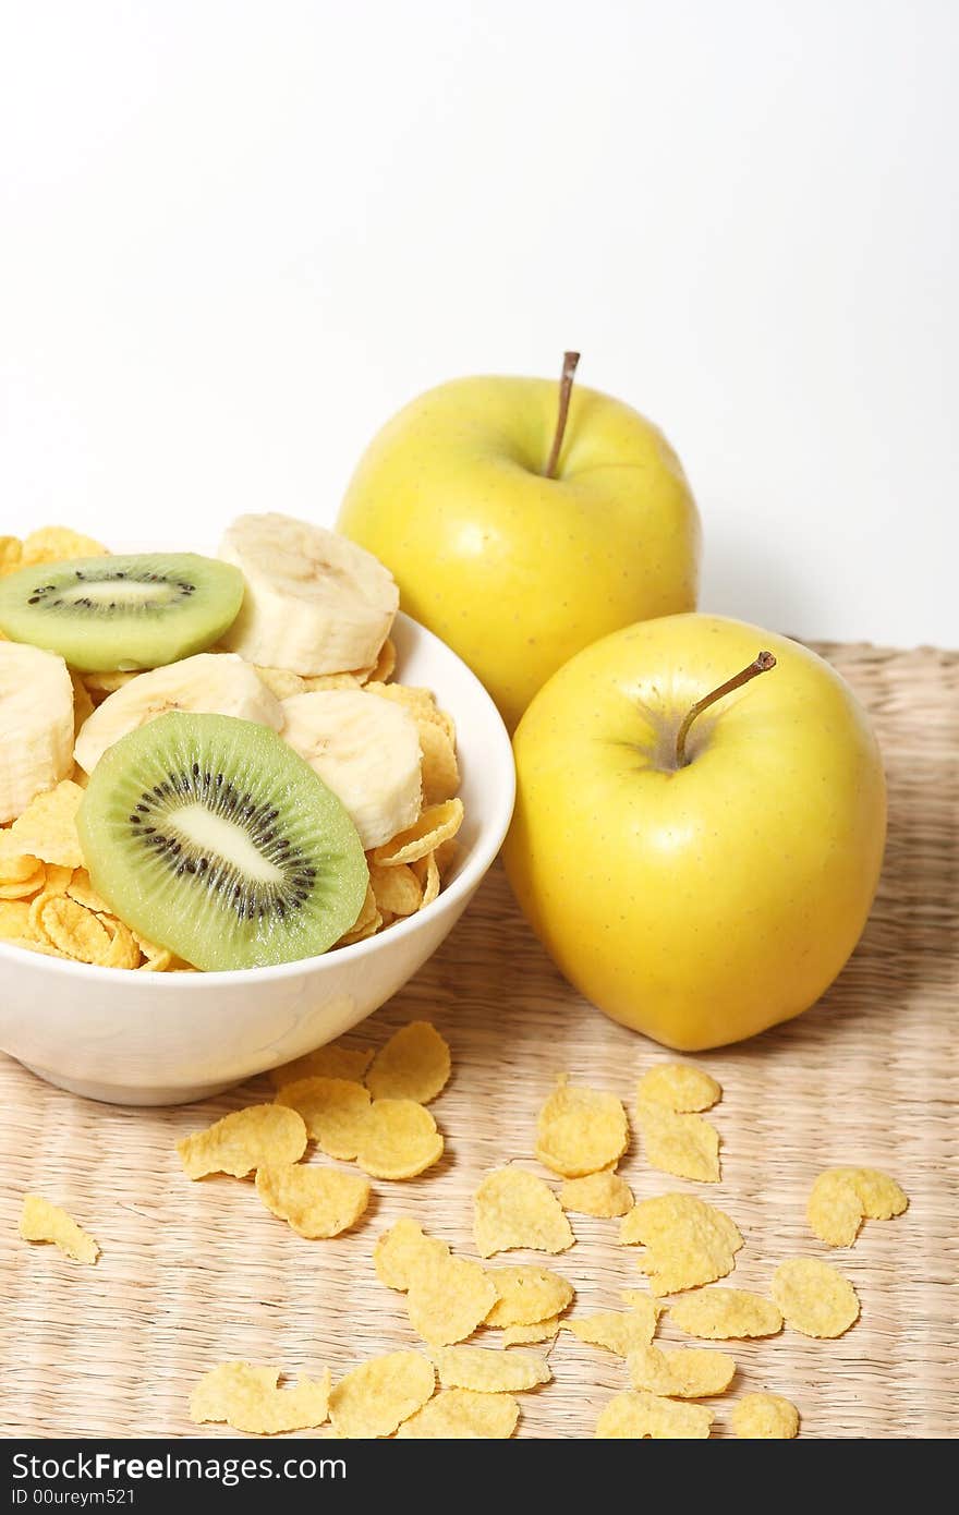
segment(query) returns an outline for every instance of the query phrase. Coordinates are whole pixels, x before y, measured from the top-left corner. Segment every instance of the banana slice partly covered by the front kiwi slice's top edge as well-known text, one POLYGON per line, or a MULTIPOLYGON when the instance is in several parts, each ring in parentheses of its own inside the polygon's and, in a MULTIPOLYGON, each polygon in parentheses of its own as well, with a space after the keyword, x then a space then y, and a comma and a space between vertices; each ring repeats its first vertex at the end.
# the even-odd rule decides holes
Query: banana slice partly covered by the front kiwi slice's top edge
POLYGON ((235 715, 241 721, 271 726, 274 732, 283 726, 280 701, 250 664, 236 653, 197 653, 141 673, 108 695, 80 727, 74 747, 77 764, 92 773, 108 747, 167 711, 235 715))

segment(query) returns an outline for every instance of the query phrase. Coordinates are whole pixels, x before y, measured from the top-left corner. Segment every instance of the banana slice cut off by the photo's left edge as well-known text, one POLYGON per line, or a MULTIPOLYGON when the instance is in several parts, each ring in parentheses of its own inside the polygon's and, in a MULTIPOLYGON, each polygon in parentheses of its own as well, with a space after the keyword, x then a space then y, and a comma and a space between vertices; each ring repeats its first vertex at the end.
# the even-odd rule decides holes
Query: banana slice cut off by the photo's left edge
POLYGON ((0 824, 73 773, 73 683, 67 664, 26 642, 0 642, 0 824))

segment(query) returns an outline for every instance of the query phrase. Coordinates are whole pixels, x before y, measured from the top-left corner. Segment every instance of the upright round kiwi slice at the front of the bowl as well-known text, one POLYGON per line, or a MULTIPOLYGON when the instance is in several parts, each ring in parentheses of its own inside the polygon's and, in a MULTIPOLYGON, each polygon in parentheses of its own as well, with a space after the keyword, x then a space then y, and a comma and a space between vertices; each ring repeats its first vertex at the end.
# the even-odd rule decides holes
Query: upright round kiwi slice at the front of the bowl
POLYGON ((111 747, 77 817, 94 888, 195 968, 324 953, 367 895, 336 795, 267 726, 161 715, 111 747))

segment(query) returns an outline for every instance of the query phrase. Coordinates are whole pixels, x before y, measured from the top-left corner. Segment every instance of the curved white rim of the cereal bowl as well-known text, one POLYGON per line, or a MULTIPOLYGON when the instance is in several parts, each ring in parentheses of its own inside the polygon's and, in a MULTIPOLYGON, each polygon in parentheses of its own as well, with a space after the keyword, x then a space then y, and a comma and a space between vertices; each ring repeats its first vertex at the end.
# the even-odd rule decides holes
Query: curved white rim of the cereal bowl
POLYGON ((394 923, 388 930, 379 932, 376 936, 368 936, 365 941, 351 942, 348 947, 327 948, 327 951, 320 953, 314 957, 295 957, 292 962, 277 962, 267 964, 262 968, 223 968, 212 973, 197 971, 192 974, 182 973, 144 973, 130 971, 130 968, 106 968, 95 962, 73 962, 68 957, 48 957, 44 953, 30 951, 29 947, 15 947, 12 942, 0 941, 0 964, 5 961, 12 961, 15 964, 32 964, 33 967, 42 967, 53 973, 67 974, 67 977, 76 977, 80 974, 82 980, 86 983, 118 983, 124 982, 130 986, 139 983, 139 988, 133 988, 133 994, 148 992, 150 988, 164 988, 161 994, 171 994, 176 989, 194 989, 201 988, 229 988, 236 983, 274 983, 282 979, 292 977, 303 973, 315 973, 320 965, 324 964, 351 964, 361 962, 364 957, 370 957, 377 951, 385 951, 392 942, 398 942, 406 936, 414 936, 418 929, 421 929, 430 914, 435 912, 436 906, 451 907, 455 906, 464 894, 470 894, 482 880, 483 874, 488 873, 492 865, 503 841, 506 832, 509 830, 509 823, 512 820, 514 804, 517 798, 517 770, 512 756, 512 742, 509 739, 509 732, 503 724, 503 717, 495 708, 488 689, 476 677, 473 670, 459 653, 453 651, 448 642, 444 642, 441 636, 430 632, 429 627, 423 626, 421 621, 415 621, 412 615, 406 615, 403 611, 397 611, 397 621, 403 627, 409 627, 417 638, 424 638, 427 644, 436 642, 444 653, 453 658, 461 668, 461 674, 465 676, 468 685, 473 686, 473 692, 479 700, 480 708, 485 708, 486 717, 491 723, 491 732, 494 736, 494 745, 497 748, 497 770, 503 768, 504 786, 501 792, 494 795, 492 814, 486 826, 480 830, 471 853, 467 856, 464 867, 459 874, 447 889, 441 889, 438 897, 427 904, 424 911, 418 911, 415 915, 408 915, 405 920, 394 923))

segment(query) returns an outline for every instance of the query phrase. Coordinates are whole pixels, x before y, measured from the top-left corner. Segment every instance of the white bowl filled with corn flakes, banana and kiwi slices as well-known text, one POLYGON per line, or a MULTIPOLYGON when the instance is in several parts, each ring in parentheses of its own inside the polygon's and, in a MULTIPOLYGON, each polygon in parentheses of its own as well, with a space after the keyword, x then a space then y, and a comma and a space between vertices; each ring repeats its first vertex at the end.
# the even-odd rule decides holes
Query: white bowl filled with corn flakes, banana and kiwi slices
MULTIPOLYGON (((124 630, 112 668, 0 639, 0 1045, 80 1092, 198 1097, 339 1035, 426 961, 504 835, 512 756, 482 686, 415 623, 383 618, 379 565, 376 615, 361 606, 330 653, 330 604, 345 617, 358 583, 344 561, 368 554, 292 524, 317 532, 308 612, 291 614, 297 661, 312 624, 317 661, 362 651, 361 668, 259 665, 221 641, 120 667, 132 647, 144 661, 147 632, 152 656, 173 647, 179 606, 136 577, 147 608, 136 591, 111 597, 132 570, 111 579, 106 554, 95 592, 45 608, 42 635, 76 656, 91 624, 102 658, 103 623, 133 621, 141 641, 124 630)), ((245 604, 255 591, 233 573, 245 604)), ((15 565, 0 632, 23 635, 9 606, 64 579, 64 565, 15 565)), ((194 621, 201 606, 198 586, 194 621)))

